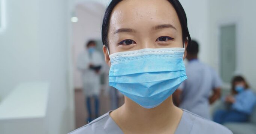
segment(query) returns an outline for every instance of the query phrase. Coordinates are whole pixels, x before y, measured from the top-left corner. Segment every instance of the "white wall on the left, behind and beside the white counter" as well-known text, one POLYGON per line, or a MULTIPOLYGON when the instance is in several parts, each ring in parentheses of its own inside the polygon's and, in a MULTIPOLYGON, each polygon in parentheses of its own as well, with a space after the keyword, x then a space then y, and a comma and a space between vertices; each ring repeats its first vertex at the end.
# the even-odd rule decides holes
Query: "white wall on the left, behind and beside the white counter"
POLYGON ((67 7, 67 0, 6 0, 6 30, 0 33, 0 98, 18 83, 49 82, 49 134, 72 130, 67 7))

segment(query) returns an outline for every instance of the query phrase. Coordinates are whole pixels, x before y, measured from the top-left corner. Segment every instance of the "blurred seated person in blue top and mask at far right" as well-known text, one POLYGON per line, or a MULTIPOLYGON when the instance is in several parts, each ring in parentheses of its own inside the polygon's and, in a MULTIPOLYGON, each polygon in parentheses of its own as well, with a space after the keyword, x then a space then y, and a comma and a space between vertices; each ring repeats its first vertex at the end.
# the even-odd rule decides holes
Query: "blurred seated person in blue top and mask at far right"
POLYGON ((229 109, 216 111, 213 116, 215 122, 223 124, 248 121, 256 103, 256 96, 242 76, 233 78, 231 94, 223 98, 225 103, 230 104, 229 109))

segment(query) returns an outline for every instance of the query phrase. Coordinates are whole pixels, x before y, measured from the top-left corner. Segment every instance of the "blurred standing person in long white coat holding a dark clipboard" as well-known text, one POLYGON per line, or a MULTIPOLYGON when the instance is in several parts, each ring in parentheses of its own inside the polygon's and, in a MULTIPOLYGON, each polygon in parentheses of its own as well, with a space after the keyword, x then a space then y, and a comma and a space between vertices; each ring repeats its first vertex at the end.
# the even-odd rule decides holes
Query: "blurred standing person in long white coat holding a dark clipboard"
POLYGON ((83 93, 88 112, 87 121, 93 120, 91 99, 94 99, 94 116, 99 117, 99 94, 100 94, 100 71, 103 65, 103 58, 96 50, 96 42, 88 41, 86 50, 78 56, 77 67, 82 73, 83 93))

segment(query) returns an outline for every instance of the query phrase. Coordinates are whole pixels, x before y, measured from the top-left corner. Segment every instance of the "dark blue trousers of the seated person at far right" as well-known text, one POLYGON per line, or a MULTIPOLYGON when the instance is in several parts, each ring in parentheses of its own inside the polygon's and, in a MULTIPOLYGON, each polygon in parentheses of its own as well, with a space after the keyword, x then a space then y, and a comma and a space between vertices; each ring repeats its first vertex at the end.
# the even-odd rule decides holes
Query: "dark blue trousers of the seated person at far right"
POLYGON ((219 124, 226 122, 246 122, 249 114, 235 110, 218 110, 213 115, 213 121, 219 124))

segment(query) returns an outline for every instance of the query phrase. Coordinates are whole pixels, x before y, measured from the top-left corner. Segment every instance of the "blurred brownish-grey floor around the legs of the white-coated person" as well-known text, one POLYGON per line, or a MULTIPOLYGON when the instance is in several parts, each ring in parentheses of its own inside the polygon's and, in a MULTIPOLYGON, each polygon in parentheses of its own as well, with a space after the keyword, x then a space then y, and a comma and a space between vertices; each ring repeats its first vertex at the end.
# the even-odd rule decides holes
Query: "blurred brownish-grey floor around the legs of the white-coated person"
MULTIPOLYGON (((124 98, 119 99, 119 106, 123 105, 124 98)), ((100 115, 105 114, 110 111, 110 99, 108 95, 105 95, 103 92, 100 93, 100 115)), ((84 94, 81 89, 75 89, 75 112, 76 112, 76 128, 86 125, 88 122, 87 111, 85 110, 85 100, 84 94)))

